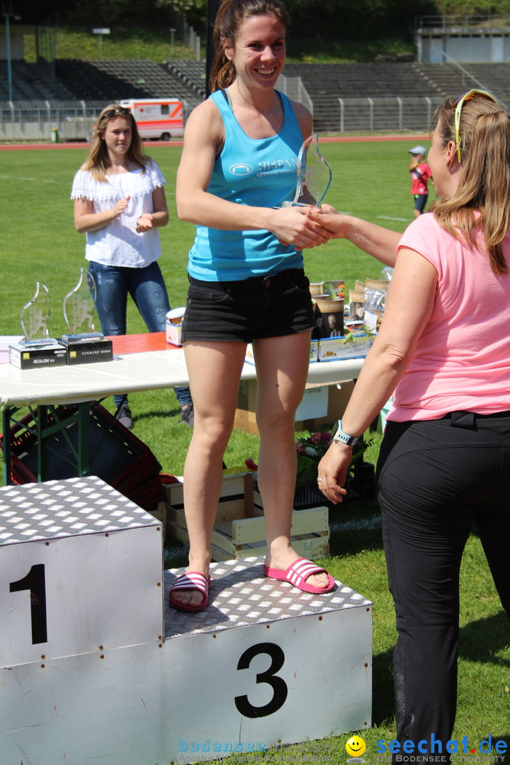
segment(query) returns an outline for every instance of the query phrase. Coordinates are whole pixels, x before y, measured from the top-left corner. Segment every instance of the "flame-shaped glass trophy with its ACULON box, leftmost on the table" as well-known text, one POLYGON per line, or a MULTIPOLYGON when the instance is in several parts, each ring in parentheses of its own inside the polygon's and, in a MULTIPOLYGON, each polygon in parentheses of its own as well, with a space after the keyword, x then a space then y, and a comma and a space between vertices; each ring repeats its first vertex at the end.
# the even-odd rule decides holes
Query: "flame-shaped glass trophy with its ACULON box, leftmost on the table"
POLYGON ((46 285, 36 283, 35 295, 21 309, 20 321, 24 337, 9 346, 9 363, 20 369, 66 363, 66 349, 48 334, 50 293, 46 285))

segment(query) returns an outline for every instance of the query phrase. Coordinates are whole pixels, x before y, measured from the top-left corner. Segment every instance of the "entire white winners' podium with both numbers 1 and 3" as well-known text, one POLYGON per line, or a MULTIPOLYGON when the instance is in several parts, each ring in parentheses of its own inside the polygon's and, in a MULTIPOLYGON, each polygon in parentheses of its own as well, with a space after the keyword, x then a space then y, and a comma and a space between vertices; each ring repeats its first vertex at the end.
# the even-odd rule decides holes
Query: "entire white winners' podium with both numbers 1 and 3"
MULTIPOLYGON (((40 488, 55 509, 64 484, 89 513, 96 495, 95 521, 106 525, 66 536, 52 519, 60 536, 34 539, 31 524, 31 541, 20 541, 5 516, 20 512, 13 497, 23 487, 19 495, 0 493, 2 765, 168 765, 305 746, 370 726, 372 604, 365 597, 340 583, 325 595, 306 594, 265 578, 263 558, 247 558, 212 565, 205 611, 174 610, 167 591, 184 569, 161 578, 154 519, 95 478, 24 490, 40 488), (116 522, 113 513, 121 513, 116 522), (48 640, 32 643, 41 577, 24 577, 41 565, 48 640)), ((41 502, 34 505, 41 512, 41 502)))

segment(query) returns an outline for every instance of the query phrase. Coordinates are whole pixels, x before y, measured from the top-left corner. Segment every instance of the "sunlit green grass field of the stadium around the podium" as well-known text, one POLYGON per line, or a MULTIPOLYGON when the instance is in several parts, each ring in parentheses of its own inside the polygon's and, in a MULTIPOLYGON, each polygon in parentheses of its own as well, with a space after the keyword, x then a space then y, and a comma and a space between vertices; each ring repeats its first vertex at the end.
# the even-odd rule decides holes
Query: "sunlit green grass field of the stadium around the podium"
MULTIPOLYGON (((422 139, 428 145, 426 139, 422 139)), ((323 155, 333 168, 333 184, 326 198, 338 210, 365 217, 398 231, 413 218, 408 148, 416 143, 397 141, 323 144, 323 155)), ((180 147, 148 147, 167 178, 171 221, 161 229, 161 267, 171 304, 183 305, 187 293, 187 252, 193 226, 180 223, 174 208, 174 184, 180 147)), ((50 334, 65 331, 62 301, 77 282, 84 237, 73 227, 70 188, 73 174, 86 157, 86 148, 0 151, 0 204, 3 210, 2 272, 0 278, 0 334, 21 334, 19 314, 34 295, 36 282, 50 290, 50 334)), ((431 195, 430 199, 433 198, 431 195)), ((356 278, 377 278, 381 265, 349 243, 335 241, 307 252, 311 282, 344 278, 347 288, 356 278)), ((145 331, 133 306, 128 330, 145 331)), ((181 474, 191 431, 178 424, 179 407, 173 392, 153 391, 130 396, 134 432, 154 451, 164 472, 181 474)), ((111 402, 109 403, 111 407, 111 402)), ((369 461, 377 457, 377 444, 369 461)), ((234 431, 225 461, 228 467, 257 460, 258 437, 234 431)), ((388 594, 378 508, 375 502, 351 500, 330 511, 331 555, 324 561, 330 573, 374 602, 373 727, 362 731, 366 763, 375 763, 379 739, 395 736, 391 650, 395 641, 394 614, 388 594)), ((181 545, 167 545, 167 565, 184 565, 181 545)), ((510 630, 483 557, 479 540, 469 539, 462 569, 459 709, 453 737, 469 738, 478 745, 492 734, 492 741, 510 743, 510 630)), ((304 699, 304 715, 306 715, 304 699)), ((345 763, 350 734, 327 739, 327 756, 345 763)), ((299 747, 286 752, 296 763, 304 762, 299 747), (294 753, 294 754, 293 754, 294 753)), ((236 760, 232 758, 232 762, 236 760)), ((266 754, 260 761, 278 763, 266 754)), ((151 763, 148 763, 151 765, 151 763)))

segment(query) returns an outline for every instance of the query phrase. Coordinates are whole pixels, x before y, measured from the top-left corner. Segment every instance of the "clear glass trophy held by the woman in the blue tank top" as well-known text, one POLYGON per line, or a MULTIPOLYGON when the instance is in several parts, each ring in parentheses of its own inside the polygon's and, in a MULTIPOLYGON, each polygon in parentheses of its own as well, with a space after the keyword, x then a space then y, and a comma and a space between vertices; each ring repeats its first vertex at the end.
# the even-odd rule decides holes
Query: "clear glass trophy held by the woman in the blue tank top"
POLYGON ((297 187, 294 199, 282 207, 320 207, 333 173, 319 148, 319 134, 310 135, 297 155, 297 187))

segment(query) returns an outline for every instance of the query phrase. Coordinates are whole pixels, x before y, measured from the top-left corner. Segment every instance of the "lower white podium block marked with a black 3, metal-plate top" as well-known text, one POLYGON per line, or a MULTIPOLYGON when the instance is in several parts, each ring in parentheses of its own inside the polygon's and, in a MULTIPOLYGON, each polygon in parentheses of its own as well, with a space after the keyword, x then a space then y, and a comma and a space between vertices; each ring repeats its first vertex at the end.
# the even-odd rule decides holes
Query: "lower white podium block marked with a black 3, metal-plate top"
MULTIPOLYGON (((340 583, 325 595, 301 592, 265 578, 263 562, 213 564, 205 612, 165 608, 172 683, 184 692, 167 730, 175 762, 372 724, 371 602, 340 583)), ((165 572, 165 588, 183 572, 165 572)))

